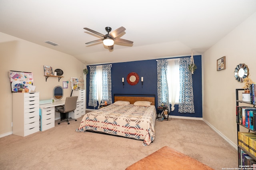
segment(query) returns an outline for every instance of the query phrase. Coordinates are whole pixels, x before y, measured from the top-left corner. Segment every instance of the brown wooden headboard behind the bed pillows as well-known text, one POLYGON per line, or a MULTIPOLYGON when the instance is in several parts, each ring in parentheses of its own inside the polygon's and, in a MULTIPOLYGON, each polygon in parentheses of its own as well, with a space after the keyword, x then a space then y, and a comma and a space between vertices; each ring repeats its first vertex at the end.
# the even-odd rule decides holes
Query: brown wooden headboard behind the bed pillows
POLYGON ((155 95, 130 95, 130 94, 114 94, 114 102, 129 101, 134 104, 136 101, 149 101, 151 105, 155 105, 155 95))

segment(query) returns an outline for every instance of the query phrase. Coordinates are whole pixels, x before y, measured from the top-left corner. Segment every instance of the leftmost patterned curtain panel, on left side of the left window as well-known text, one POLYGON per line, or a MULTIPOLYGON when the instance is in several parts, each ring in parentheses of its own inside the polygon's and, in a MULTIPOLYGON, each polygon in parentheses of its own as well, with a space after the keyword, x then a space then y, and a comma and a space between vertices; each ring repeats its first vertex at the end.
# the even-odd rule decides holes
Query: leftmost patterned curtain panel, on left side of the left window
POLYGON ((97 107, 97 83, 96 83, 96 66, 90 66, 89 82, 89 103, 88 106, 97 107))

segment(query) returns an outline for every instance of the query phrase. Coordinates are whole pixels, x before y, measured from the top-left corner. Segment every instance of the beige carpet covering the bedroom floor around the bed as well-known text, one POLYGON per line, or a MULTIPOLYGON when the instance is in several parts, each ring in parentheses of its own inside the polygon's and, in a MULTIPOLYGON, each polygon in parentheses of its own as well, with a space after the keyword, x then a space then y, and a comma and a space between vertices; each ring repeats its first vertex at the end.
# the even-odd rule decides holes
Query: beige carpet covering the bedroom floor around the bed
MULTIPOLYGON (((92 132, 76 132, 80 121, 62 122, 30 136, 0 138, 1 170, 124 170, 163 146, 169 146, 215 170, 238 166, 237 151, 203 121, 156 121, 156 138, 142 141, 92 132)), ((164 164, 165 162, 158 162, 164 164)), ((172 167, 170 167, 172 169, 172 167)))

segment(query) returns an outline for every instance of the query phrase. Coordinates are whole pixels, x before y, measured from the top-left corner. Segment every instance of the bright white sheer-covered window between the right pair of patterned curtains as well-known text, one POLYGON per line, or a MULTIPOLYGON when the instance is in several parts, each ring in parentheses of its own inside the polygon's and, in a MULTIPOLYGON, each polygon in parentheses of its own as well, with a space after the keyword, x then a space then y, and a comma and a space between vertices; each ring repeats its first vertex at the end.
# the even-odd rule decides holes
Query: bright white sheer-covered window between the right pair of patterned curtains
MULTIPOLYGON (((169 103, 179 103, 180 97, 180 59, 168 59, 167 82, 169 89, 169 103)), ((173 105, 174 105, 173 103, 173 105)))

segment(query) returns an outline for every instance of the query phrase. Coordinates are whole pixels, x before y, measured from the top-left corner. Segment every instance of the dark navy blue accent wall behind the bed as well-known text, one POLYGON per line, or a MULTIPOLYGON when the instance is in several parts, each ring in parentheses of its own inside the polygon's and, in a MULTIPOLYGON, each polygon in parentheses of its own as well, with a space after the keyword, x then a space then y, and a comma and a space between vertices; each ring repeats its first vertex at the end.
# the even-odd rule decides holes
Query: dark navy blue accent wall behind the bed
MULTIPOLYGON (((190 56, 187 56, 190 57, 190 56)), ((195 113, 178 113, 178 105, 169 115, 185 116, 185 117, 202 117, 202 58, 201 55, 194 55, 194 63, 197 66, 196 71, 192 75, 193 93, 194 93, 194 109, 195 113)), ((89 99, 89 74, 86 77, 86 97, 87 109, 94 109, 88 106, 89 99)), ((112 79, 112 101, 114 102, 114 94, 154 94, 156 96, 157 107, 157 62, 156 59, 131 61, 124 63, 112 63, 111 69, 112 79), (139 77, 144 77, 143 86, 141 81, 136 85, 129 85, 126 77, 130 72, 135 72, 139 77), (122 83, 124 77, 124 88, 122 83)))

